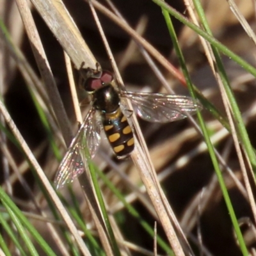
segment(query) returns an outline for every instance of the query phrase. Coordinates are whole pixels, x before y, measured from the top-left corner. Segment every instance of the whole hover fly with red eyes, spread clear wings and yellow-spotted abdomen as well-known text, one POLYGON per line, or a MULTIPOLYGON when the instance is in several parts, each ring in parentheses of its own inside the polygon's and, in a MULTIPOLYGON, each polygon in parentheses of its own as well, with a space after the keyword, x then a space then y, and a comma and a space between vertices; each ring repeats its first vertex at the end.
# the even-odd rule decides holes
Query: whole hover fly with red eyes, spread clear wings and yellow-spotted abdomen
POLYGON ((173 122, 201 109, 199 102, 186 96, 118 90, 108 71, 93 70, 90 76, 83 88, 92 97, 92 107, 60 163, 54 180, 57 189, 84 172, 84 152, 95 156, 102 130, 117 158, 124 159, 134 150, 134 134, 128 122, 132 111, 122 106, 122 98, 131 100, 138 116, 148 122, 173 122))

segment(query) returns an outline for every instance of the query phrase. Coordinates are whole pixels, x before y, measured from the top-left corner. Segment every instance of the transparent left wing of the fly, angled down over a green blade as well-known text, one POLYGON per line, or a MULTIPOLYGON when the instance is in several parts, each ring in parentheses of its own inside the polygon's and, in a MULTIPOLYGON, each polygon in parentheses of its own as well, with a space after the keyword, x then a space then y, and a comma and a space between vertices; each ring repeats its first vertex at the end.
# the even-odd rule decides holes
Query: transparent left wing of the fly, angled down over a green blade
POLYGON ((100 144, 101 127, 94 109, 90 109, 60 163, 54 179, 56 189, 63 187, 65 183, 73 182, 84 172, 83 159, 95 156, 100 144))

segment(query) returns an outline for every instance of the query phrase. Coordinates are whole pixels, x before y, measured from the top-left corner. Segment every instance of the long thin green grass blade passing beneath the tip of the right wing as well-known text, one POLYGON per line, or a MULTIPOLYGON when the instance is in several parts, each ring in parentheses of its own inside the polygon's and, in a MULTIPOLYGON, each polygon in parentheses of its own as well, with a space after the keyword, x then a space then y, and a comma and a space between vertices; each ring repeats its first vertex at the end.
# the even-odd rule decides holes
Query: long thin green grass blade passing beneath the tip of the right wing
MULTIPOLYGON (((175 52, 177 53, 177 57, 179 58, 179 62, 180 62, 180 66, 182 68, 182 72, 184 73, 186 83, 188 84, 189 92, 191 93, 191 96, 193 98, 195 98, 195 92, 193 92, 193 86, 192 86, 192 83, 191 83, 191 79, 189 77, 189 73, 188 73, 188 70, 186 68, 186 63, 184 61, 184 56, 183 56, 183 54, 180 50, 179 44, 178 44, 177 36, 175 34, 175 30, 174 30, 173 24, 172 24, 172 19, 170 18, 169 13, 166 10, 164 10, 163 8, 162 8, 162 12, 163 12, 163 15, 164 15, 164 19, 166 20, 166 24, 168 26, 170 36, 172 37, 173 47, 175 48, 175 52)), ((214 154, 214 149, 213 149, 211 140, 209 138, 209 134, 208 134, 207 128, 205 126, 204 119, 202 118, 202 115, 201 115, 200 111, 197 112, 197 115, 198 115, 198 120, 199 120, 200 126, 202 128, 202 132, 204 134, 205 143, 207 144, 207 148, 209 150, 209 154, 210 154, 211 159, 212 159, 212 164, 214 166, 214 170, 215 170, 216 175, 218 177, 220 187, 221 187, 221 191, 223 193, 223 197, 225 199, 225 202, 226 202, 226 205, 227 205, 227 208, 228 208, 228 212, 230 214, 230 218, 232 220, 232 223, 233 223, 233 226, 234 226, 234 229, 235 229, 235 232, 236 232, 237 239, 239 240, 241 251, 243 252, 243 255, 248 255, 246 244, 244 243, 243 235, 242 235, 241 230, 239 228, 239 224, 237 222, 236 214, 235 214, 234 209, 232 207, 232 203, 231 203, 230 197, 228 195, 228 191, 227 191, 227 188, 225 186, 224 179, 222 177, 222 173, 221 173, 221 170, 220 170, 220 166, 218 164, 218 160, 216 159, 216 156, 214 154)))

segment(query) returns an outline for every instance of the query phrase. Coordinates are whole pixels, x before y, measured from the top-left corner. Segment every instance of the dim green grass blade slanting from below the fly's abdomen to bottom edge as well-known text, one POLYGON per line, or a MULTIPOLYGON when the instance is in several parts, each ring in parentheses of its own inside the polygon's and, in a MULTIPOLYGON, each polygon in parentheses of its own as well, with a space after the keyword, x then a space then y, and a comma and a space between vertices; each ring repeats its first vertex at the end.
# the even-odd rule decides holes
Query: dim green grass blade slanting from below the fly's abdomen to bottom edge
MULTIPOLYGON (((140 223, 141 227, 143 227, 148 232, 148 234, 150 234, 150 236, 152 236, 152 238, 153 238, 154 237, 154 229, 147 223, 147 221, 143 220, 143 218, 140 216, 139 212, 136 211, 136 209, 134 209, 134 207, 132 207, 131 204, 128 204, 125 201, 125 198, 122 195, 122 193, 120 193, 120 191, 118 189, 116 189, 116 187, 113 185, 113 183, 106 177, 106 175, 104 175, 103 172, 100 172, 100 170, 97 167, 95 167, 95 171, 99 175, 100 179, 103 180, 104 184, 106 184, 106 186, 108 186, 108 188, 124 204, 125 208, 129 212, 129 214, 131 214, 140 223)), ((164 240, 159 235, 157 235, 156 239, 157 239, 157 244, 166 253, 168 253, 168 255, 174 255, 172 249, 170 248, 170 246, 168 246, 168 244, 166 244, 164 242, 164 240)))

